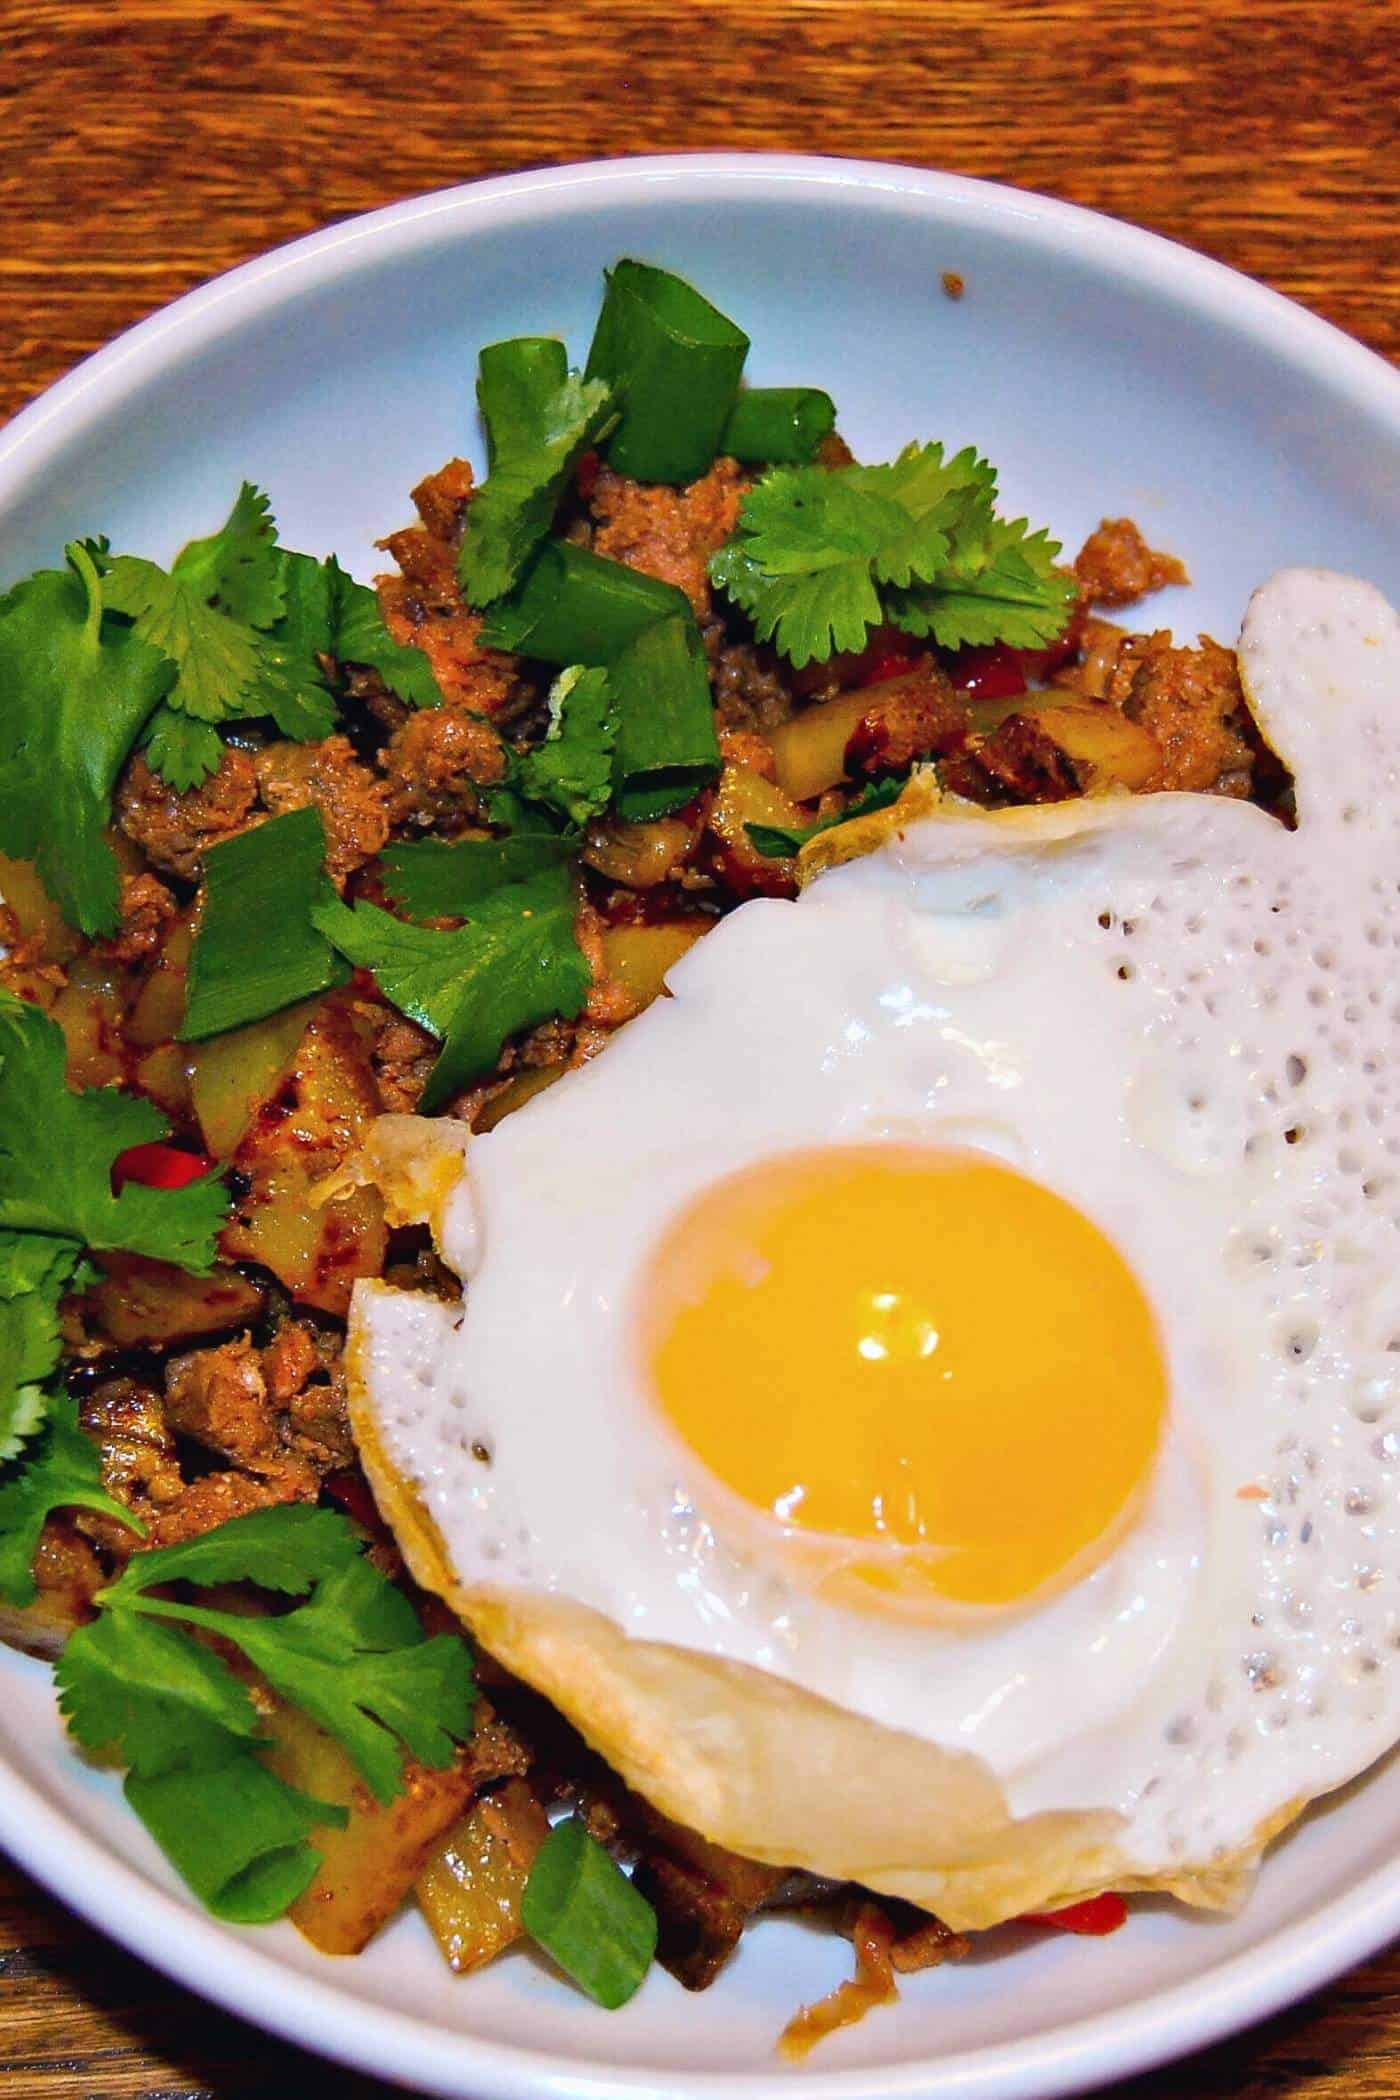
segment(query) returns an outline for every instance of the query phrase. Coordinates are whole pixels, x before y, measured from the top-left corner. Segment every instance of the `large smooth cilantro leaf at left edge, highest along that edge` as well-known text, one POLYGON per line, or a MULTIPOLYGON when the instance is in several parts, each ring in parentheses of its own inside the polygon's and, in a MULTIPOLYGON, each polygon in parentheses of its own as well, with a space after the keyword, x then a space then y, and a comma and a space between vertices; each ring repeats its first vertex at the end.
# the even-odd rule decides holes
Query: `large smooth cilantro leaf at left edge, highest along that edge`
POLYGON ((170 685, 166 657, 105 617, 86 548, 0 598, 0 850, 36 861, 69 924, 113 932, 111 790, 170 685))

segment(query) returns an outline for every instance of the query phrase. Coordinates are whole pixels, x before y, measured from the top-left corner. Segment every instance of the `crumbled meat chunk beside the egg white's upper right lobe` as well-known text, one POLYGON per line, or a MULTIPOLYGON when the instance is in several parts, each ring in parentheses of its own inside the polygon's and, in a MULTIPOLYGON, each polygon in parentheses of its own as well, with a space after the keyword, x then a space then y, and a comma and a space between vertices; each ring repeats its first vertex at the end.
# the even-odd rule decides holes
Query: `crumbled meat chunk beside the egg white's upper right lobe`
POLYGON ((1171 634, 1129 634, 1119 651, 1108 699, 1161 746, 1161 766, 1144 792, 1192 790, 1249 794, 1245 689, 1232 649, 1207 634, 1199 649, 1175 649, 1171 634))

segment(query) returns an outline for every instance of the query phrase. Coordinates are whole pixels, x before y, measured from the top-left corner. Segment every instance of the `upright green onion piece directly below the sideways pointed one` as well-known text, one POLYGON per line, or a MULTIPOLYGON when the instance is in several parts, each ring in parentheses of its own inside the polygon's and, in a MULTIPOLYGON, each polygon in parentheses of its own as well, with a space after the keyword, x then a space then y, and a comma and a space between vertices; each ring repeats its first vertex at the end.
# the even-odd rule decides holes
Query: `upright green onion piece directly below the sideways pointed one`
POLYGON ((686 605, 684 620, 644 628, 609 670, 617 710, 613 800, 625 823, 680 808, 720 777, 720 743, 705 649, 686 605))

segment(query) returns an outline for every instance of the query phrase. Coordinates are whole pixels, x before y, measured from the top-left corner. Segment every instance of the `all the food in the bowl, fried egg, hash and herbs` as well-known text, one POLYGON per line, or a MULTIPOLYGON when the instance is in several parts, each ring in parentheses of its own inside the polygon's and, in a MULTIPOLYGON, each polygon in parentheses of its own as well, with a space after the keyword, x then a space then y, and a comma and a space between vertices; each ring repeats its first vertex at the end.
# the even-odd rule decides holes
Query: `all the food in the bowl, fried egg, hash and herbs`
POLYGON ((1110 628, 1133 527, 1064 571, 743 351, 619 265, 378 598, 243 489, 0 607, 0 1575, 220 1915, 621 2003, 819 1905, 808 2039, 1232 1900, 1396 1732, 1396 640, 1110 628))

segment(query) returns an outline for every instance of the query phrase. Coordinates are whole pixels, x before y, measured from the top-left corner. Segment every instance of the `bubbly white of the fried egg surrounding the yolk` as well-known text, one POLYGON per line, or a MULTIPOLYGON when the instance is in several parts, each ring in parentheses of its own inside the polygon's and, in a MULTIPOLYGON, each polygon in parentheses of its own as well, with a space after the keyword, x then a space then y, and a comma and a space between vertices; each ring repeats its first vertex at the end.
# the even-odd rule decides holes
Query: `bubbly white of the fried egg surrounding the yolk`
POLYGON ((563 1594, 972 1749, 1018 1814, 1112 1808, 1144 1871, 1400 1737, 1400 622, 1285 571, 1240 659, 1295 832, 1205 796, 945 813, 743 905, 672 1000, 472 1140, 466 1317, 363 1312, 376 1418, 464 1586, 563 1594), (636 1367, 638 1277, 686 1199, 882 1136, 1068 1197, 1167 1350, 1138 1522, 970 1628, 812 1596, 636 1367))

